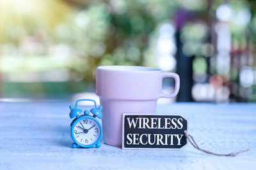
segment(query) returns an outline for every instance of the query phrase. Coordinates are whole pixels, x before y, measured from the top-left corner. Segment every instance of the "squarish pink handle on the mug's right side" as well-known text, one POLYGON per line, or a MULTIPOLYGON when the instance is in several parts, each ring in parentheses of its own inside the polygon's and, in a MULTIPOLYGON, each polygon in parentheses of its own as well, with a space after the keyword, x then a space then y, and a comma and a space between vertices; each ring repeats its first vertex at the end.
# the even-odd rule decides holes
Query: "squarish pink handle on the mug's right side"
POLYGON ((172 77, 175 80, 175 87, 174 87, 174 91, 170 94, 165 94, 163 92, 161 92, 161 97, 166 97, 166 98, 170 98, 170 97, 175 97, 177 96, 179 89, 180 89, 180 77, 178 74, 176 73, 162 73, 162 80, 165 77, 172 77))

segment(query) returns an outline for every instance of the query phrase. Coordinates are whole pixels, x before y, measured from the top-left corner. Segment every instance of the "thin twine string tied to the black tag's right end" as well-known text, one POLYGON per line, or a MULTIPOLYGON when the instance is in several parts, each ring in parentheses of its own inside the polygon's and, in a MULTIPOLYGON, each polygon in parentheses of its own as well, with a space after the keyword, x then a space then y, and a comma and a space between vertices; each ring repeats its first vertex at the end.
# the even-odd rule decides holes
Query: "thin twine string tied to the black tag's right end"
POLYGON ((239 152, 236 152, 236 153, 228 153, 228 154, 219 154, 219 153, 209 152, 209 151, 207 151, 207 150, 203 150, 202 148, 200 148, 200 147, 196 144, 196 142, 195 142, 193 136, 191 136, 190 134, 188 134, 187 131, 184 131, 184 132, 185 132, 185 136, 188 138, 189 143, 191 143, 191 145, 194 146, 194 148, 196 148, 197 150, 200 150, 200 151, 202 151, 202 152, 204 152, 204 153, 208 153, 208 154, 216 155, 216 156, 220 156, 220 157, 236 157, 236 155, 238 155, 239 153, 243 153, 243 152, 248 152, 248 151, 249 151, 249 148, 248 148, 248 149, 246 149, 246 150, 240 150, 239 152))

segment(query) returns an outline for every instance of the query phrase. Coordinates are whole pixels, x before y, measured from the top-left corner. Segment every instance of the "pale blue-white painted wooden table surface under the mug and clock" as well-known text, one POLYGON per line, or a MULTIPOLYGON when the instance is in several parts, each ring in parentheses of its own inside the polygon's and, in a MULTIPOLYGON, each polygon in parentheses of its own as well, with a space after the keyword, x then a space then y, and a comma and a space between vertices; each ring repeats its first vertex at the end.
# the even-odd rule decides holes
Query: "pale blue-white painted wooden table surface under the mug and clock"
POLYGON ((255 169, 256 104, 173 103, 157 113, 188 118, 189 133, 217 153, 250 148, 237 157, 195 150, 71 148, 71 102, 0 103, 0 169, 255 169))

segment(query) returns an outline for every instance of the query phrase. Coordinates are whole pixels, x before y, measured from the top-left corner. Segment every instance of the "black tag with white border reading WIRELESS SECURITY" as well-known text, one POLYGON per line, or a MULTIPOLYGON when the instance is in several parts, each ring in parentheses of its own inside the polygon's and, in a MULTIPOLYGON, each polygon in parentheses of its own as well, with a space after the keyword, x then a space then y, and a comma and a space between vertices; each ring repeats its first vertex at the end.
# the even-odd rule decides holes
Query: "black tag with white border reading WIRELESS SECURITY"
POLYGON ((122 148, 177 150, 187 144, 187 130, 179 115, 124 113, 122 148))

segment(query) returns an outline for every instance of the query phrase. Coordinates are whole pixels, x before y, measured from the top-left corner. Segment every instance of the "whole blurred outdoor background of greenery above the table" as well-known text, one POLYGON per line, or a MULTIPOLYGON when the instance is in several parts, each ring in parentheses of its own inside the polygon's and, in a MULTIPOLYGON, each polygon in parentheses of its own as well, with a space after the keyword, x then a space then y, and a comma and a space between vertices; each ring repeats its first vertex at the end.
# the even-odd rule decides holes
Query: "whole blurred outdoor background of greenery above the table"
POLYGON ((177 72, 169 101, 255 102, 255 11, 249 0, 0 0, 1 100, 95 97, 97 66, 132 65, 177 72))

